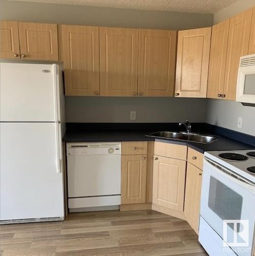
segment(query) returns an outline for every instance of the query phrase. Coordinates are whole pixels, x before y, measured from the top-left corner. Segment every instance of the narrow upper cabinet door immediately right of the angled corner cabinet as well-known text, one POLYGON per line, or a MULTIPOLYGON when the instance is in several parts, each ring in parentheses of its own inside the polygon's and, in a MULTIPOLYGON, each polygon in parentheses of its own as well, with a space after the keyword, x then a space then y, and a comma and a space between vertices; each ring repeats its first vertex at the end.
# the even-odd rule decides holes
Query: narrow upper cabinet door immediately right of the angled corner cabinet
POLYGON ((221 98, 223 94, 228 30, 229 19, 212 29, 207 98, 221 98))

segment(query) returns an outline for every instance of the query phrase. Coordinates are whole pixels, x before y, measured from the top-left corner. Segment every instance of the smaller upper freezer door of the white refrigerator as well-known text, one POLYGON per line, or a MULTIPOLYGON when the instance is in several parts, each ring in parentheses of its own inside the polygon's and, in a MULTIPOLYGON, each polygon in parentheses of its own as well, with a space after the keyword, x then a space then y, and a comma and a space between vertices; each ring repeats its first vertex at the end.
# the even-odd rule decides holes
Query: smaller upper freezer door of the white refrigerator
POLYGON ((54 65, 1 63, 1 121, 60 121, 58 68, 54 65))

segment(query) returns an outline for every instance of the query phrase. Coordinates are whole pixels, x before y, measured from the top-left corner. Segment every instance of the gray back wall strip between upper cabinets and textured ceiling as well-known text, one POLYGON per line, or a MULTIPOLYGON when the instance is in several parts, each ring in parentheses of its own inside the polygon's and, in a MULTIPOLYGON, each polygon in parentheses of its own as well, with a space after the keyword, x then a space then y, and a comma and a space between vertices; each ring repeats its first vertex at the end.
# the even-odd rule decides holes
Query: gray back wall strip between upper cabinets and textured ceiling
POLYGON ((213 24, 213 14, 177 13, 0 0, 0 19, 109 27, 190 29, 213 24))

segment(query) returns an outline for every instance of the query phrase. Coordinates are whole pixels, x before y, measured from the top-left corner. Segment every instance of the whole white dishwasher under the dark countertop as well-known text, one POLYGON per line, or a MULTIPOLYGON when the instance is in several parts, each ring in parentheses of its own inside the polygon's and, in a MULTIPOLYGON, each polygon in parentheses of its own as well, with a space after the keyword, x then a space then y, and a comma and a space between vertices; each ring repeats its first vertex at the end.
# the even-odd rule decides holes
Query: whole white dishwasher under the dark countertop
POLYGON ((70 212, 119 208, 121 142, 67 143, 70 212))

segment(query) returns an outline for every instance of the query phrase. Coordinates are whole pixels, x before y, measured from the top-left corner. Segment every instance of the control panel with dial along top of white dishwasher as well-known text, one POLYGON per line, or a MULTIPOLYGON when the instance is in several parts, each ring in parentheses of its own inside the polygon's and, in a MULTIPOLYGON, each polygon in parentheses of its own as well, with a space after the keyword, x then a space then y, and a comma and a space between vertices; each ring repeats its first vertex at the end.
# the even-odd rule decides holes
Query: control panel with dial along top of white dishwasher
POLYGON ((67 143, 67 156, 121 155, 121 142, 67 143))

